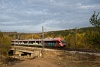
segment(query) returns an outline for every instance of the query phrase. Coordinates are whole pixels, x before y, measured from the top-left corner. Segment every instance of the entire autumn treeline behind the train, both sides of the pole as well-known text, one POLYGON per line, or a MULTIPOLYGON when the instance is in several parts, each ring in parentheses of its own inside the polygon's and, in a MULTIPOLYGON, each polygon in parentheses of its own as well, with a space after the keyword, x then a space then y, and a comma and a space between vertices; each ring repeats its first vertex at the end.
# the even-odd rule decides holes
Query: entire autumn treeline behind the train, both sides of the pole
MULTIPOLYGON (((41 39, 42 33, 4 33, 11 39, 41 39)), ((45 38, 61 37, 68 48, 100 49, 100 32, 96 27, 84 27, 61 31, 44 32, 45 38)))

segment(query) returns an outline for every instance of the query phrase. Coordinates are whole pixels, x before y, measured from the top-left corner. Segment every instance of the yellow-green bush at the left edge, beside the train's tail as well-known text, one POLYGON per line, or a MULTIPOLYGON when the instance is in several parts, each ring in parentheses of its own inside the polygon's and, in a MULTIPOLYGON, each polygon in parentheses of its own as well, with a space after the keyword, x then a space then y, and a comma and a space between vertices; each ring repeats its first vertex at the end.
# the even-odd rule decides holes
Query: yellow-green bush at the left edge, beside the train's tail
MULTIPOLYGON (((8 36, 4 36, 2 32, 0 32, 0 61, 8 58, 8 51, 11 45, 11 38, 8 36)), ((5 60, 4 60, 5 61, 5 60)))

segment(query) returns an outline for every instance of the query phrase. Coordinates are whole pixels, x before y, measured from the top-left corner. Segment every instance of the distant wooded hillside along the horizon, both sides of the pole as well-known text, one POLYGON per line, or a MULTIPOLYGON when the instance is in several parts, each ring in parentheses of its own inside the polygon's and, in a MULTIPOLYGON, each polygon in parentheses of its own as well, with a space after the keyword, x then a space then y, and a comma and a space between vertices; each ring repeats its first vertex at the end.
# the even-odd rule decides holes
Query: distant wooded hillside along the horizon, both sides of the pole
MULTIPOLYGON (((95 27, 84 27, 84 28, 79 28, 77 29, 77 33, 83 33, 87 31, 95 31, 95 27)), ((49 31, 45 32, 45 38, 46 37, 60 37, 60 36, 67 36, 68 34, 72 33, 74 34, 76 32, 76 29, 69 29, 69 30, 59 30, 59 31, 49 31)), ((18 32, 2 32, 3 35, 8 35, 9 37, 15 37, 18 38, 17 36, 27 36, 27 35, 38 35, 40 36, 41 33, 18 33, 18 32)), ((21 38, 21 37, 20 37, 21 38)))

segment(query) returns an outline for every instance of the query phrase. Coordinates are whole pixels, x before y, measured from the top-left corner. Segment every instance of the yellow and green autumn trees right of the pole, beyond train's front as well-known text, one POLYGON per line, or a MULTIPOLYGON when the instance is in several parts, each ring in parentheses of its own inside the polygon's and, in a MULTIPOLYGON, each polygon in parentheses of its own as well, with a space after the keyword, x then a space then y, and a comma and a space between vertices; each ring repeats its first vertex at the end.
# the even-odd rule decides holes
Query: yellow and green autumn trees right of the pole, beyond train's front
POLYGON ((53 31, 46 37, 62 37, 66 40, 69 48, 100 48, 100 32, 96 27, 53 31))

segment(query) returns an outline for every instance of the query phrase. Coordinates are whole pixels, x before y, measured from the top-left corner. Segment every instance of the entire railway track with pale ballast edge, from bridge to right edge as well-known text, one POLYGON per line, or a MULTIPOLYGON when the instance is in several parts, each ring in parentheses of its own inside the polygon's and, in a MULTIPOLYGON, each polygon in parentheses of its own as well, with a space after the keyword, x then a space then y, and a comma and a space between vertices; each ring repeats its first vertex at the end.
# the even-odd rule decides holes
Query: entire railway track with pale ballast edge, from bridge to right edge
POLYGON ((45 51, 64 51, 64 52, 70 52, 70 53, 80 53, 80 54, 89 54, 89 55, 96 55, 100 56, 100 50, 91 50, 91 49, 75 49, 75 48, 58 48, 58 47, 27 47, 27 46, 14 46, 17 48, 25 48, 25 49, 44 49, 45 51))

